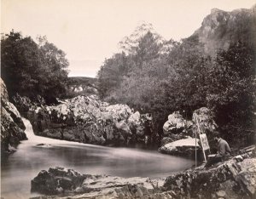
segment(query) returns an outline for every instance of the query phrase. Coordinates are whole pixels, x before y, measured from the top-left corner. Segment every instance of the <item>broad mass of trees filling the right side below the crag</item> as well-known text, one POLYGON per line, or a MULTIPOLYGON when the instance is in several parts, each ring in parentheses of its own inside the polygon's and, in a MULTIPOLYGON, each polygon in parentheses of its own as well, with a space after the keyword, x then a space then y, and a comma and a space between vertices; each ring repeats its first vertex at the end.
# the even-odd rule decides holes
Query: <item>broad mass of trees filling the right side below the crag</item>
POLYGON ((133 53, 106 60, 98 72, 100 96, 152 113, 154 132, 160 135, 172 111, 191 117, 201 106, 214 111, 227 139, 230 133, 253 134, 253 46, 237 41, 210 57, 197 36, 170 43, 172 48, 163 51, 165 43, 148 31, 133 53))

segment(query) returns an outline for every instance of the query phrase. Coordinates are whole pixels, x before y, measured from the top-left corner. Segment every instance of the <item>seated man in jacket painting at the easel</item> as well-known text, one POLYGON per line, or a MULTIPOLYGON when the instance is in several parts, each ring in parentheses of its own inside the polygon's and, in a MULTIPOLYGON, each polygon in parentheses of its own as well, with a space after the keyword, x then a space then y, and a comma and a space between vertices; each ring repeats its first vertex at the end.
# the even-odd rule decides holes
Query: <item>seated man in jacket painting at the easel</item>
POLYGON ((228 160, 231 155, 230 145, 224 139, 221 139, 219 134, 216 134, 214 139, 218 142, 218 153, 208 156, 205 168, 211 167, 214 163, 228 160))

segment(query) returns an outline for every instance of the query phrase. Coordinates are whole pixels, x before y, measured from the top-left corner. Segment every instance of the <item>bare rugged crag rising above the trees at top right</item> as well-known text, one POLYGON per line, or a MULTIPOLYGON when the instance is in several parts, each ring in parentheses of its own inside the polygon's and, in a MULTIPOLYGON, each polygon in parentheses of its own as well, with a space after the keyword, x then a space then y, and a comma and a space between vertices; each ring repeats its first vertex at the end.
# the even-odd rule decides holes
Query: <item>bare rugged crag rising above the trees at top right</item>
POLYGON ((207 54, 216 54, 218 48, 227 50, 230 44, 256 41, 256 6, 226 12, 212 9, 194 35, 205 44, 207 54))

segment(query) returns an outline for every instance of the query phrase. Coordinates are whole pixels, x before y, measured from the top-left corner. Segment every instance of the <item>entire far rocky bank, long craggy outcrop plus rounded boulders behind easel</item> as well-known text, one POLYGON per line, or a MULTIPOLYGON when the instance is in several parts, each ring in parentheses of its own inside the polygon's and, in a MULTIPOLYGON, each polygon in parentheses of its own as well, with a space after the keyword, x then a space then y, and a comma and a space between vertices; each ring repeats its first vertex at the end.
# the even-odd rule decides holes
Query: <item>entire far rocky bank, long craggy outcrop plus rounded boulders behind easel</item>
MULTIPOLYGON (((187 156, 193 154, 195 144, 172 150, 169 143, 179 139, 195 138, 200 126, 201 132, 210 140, 217 124, 212 112, 206 107, 195 110, 191 120, 173 112, 163 126, 163 134, 153 132, 152 118, 148 114, 133 111, 128 105, 110 105, 96 95, 77 96, 58 100, 56 105, 45 105, 38 97, 38 103, 16 95, 15 105, 32 123, 34 133, 53 139, 66 139, 94 145, 137 145, 158 144, 155 136, 161 138, 160 152, 187 156), (167 144, 167 145, 166 145, 167 144)), ((173 148, 173 147, 172 147, 173 148)))

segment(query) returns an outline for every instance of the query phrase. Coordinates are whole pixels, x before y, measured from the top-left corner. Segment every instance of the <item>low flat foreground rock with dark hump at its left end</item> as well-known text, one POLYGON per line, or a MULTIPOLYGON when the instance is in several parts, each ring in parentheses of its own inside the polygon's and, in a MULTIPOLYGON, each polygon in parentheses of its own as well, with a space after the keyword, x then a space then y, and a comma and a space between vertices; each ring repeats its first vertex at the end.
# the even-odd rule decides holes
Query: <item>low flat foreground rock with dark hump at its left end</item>
POLYGON ((32 192, 71 198, 73 195, 79 198, 148 198, 154 197, 154 194, 160 195, 159 187, 164 182, 165 179, 124 179, 108 175, 80 174, 67 168, 49 168, 49 171, 43 170, 32 179, 32 192))

